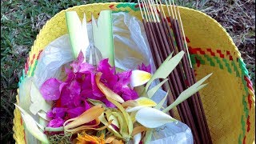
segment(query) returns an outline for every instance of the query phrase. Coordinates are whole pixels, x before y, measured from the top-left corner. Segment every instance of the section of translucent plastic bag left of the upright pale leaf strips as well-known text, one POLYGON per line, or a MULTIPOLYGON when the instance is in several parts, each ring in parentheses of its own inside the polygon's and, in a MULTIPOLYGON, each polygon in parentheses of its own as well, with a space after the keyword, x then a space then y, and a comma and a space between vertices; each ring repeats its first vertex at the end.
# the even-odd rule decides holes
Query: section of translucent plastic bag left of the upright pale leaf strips
POLYGON ((38 65, 34 70, 35 85, 40 88, 42 83, 49 78, 62 79, 62 66, 73 60, 74 56, 68 34, 62 35, 53 42, 50 42, 38 58, 38 65))

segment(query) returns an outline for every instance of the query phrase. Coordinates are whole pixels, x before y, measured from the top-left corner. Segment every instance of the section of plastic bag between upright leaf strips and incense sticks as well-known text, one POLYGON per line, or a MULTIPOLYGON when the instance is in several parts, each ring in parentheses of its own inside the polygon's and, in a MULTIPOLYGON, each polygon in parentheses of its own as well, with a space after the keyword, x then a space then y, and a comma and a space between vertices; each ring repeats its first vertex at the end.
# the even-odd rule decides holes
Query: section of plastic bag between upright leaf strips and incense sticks
POLYGON ((124 12, 112 16, 116 66, 123 70, 134 70, 143 62, 150 64, 154 71, 154 61, 142 22, 124 12))

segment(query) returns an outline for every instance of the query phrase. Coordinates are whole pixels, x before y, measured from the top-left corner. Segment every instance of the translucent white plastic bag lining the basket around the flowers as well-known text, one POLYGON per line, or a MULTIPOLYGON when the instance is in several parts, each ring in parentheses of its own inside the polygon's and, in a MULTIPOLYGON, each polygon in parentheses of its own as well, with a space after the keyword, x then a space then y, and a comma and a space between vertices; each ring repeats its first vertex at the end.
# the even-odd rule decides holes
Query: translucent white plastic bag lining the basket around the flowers
MULTIPOLYGON (((115 66, 122 70, 134 70, 141 65, 150 64, 151 72, 154 72, 154 61, 146 40, 146 33, 142 22, 130 14, 120 12, 112 15, 114 30, 115 66)), ((88 38, 91 42, 91 26, 87 24, 88 38)), ((86 52, 82 50, 85 57, 86 52)), ((62 66, 73 61, 68 34, 65 34, 53 42, 50 42, 42 51, 38 59, 38 66, 34 72, 35 84, 42 86, 48 78, 62 78, 62 66)), ((67 66, 67 65, 66 65, 67 66)), ((158 82, 154 82, 154 86, 158 82)), ((160 102, 166 95, 163 90, 158 90, 153 96, 155 102, 160 102)), ((166 102, 164 107, 166 107, 166 102)), ((172 122, 155 129, 150 143, 193 143, 191 130, 182 122, 172 122)))

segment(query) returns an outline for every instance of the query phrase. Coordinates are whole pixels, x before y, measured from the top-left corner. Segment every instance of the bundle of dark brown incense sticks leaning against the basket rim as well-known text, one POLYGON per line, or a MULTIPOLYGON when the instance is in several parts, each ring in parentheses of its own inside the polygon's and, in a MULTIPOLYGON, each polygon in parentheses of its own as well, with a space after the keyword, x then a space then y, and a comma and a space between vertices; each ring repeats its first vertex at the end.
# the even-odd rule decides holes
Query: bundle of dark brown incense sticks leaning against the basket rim
MULTIPOLYGON (((171 53, 178 54, 181 50, 186 52, 182 62, 162 86, 163 90, 171 91, 168 96, 170 104, 183 90, 196 82, 178 6, 175 6, 174 0, 169 0, 169 3, 165 0, 168 12, 166 16, 161 0, 138 0, 138 3, 155 66, 158 68, 171 53)), ((194 143, 212 143, 199 93, 182 102, 177 109, 182 122, 191 128, 194 143)), ((170 115, 173 116, 172 111, 170 115)))

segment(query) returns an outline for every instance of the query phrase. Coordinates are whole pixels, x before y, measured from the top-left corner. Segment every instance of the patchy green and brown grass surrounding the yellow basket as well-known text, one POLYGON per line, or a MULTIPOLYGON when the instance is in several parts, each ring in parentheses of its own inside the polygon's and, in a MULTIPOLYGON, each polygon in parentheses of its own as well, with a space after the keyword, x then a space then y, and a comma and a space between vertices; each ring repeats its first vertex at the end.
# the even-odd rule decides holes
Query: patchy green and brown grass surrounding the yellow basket
MULTIPOLYGON (((92 2, 110 1, 1 1, 1 142, 14 143, 12 138, 13 103, 16 101, 18 78, 21 76, 30 46, 33 45, 38 31, 59 11, 92 2)), ((183 0, 178 1, 178 4, 202 10, 226 28, 241 51, 254 82, 255 1, 183 0)))

